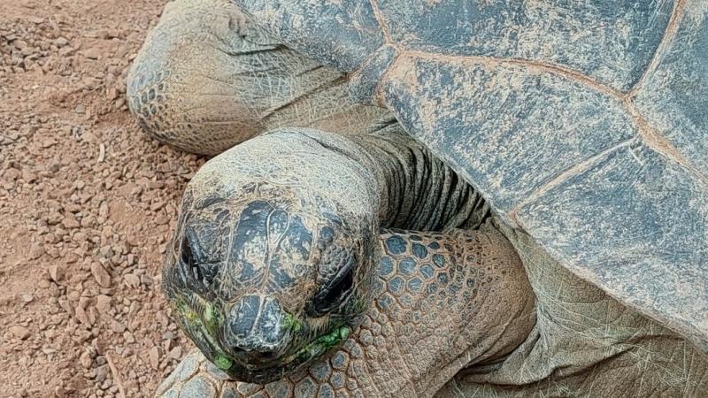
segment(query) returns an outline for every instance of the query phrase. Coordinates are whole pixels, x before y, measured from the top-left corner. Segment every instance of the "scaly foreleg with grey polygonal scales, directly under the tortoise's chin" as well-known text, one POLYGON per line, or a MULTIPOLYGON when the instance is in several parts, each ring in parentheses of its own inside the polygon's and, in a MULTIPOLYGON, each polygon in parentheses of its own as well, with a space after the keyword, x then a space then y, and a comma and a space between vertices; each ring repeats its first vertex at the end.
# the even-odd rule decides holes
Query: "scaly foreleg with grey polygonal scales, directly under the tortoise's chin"
POLYGON ((258 386, 228 380, 195 352, 157 396, 432 396, 470 362, 498 362, 533 328, 531 287, 500 233, 395 230, 380 241, 374 305, 335 353, 258 386))

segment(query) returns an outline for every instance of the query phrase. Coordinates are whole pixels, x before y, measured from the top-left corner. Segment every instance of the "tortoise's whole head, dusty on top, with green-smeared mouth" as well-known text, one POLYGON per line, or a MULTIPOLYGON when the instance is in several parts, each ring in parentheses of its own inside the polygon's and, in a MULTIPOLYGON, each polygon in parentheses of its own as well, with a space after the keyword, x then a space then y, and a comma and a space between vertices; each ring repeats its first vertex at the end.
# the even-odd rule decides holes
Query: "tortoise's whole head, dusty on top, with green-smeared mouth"
POLYGON ((375 200, 356 167, 318 156, 329 149, 297 153, 308 138, 239 145, 184 194, 165 292, 183 330, 234 379, 262 384, 310 363, 371 302, 375 200))

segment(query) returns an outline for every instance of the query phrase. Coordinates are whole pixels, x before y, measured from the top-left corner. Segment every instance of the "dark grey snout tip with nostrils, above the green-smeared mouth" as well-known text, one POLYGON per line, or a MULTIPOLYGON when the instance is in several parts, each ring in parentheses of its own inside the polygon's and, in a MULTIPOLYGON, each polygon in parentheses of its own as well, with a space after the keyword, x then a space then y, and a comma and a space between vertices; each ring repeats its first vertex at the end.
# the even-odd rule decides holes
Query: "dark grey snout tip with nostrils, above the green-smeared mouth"
POLYGON ((244 364, 268 364, 285 353, 289 314, 270 296, 246 295, 227 308, 224 343, 244 364))

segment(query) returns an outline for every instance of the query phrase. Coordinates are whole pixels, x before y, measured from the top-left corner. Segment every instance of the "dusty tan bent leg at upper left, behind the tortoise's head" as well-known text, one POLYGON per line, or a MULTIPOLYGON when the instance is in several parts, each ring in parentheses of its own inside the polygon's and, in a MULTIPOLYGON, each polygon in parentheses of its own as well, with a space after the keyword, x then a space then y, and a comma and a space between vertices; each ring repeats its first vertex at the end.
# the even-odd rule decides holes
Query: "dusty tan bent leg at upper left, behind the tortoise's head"
POLYGON ((165 5, 128 74, 143 131, 215 155, 281 126, 361 134, 388 111, 352 102, 342 73, 275 42, 227 0, 165 5))

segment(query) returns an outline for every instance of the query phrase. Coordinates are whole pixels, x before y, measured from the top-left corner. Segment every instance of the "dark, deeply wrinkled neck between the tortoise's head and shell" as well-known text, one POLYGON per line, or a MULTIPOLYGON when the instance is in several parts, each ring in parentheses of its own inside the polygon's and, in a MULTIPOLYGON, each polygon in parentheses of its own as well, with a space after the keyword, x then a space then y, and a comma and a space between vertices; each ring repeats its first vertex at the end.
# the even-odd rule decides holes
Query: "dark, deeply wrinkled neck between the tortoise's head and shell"
MULTIPOLYGON (((323 157, 321 171, 317 172, 349 172, 350 180, 338 182, 362 192, 358 200, 366 201, 350 206, 373 207, 381 227, 419 231, 476 229, 489 215, 489 206, 481 195, 406 134, 395 119, 374 126, 368 134, 343 136, 299 129, 297 135, 321 147, 308 149, 323 157), (357 184, 363 185, 350 187, 357 184)), ((324 178, 327 180, 327 176, 324 178)), ((326 189, 331 195, 331 187, 315 188, 326 189)), ((355 199, 348 202, 351 201, 355 199)))

